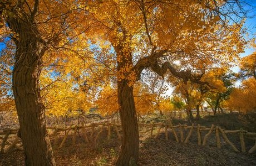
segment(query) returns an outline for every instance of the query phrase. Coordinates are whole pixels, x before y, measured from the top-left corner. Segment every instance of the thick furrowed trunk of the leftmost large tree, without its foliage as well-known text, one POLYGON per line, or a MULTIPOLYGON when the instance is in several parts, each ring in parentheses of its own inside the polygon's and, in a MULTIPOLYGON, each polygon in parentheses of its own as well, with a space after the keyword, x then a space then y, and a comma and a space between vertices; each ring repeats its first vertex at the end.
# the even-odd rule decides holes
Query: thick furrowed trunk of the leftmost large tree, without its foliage
POLYGON ((9 19, 11 29, 19 34, 13 68, 13 94, 19 118, 26 165, 55 165, 46 130, 45 107, 38 79, 46 44, 33 24, 9 19))

